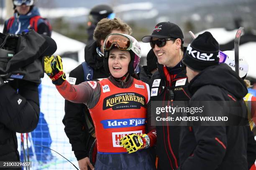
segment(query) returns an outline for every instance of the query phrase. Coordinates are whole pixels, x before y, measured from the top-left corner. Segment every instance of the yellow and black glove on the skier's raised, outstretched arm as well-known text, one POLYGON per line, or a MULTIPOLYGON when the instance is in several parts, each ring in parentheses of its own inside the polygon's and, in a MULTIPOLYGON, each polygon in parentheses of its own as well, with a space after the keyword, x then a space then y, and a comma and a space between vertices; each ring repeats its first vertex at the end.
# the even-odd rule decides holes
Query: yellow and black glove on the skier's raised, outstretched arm
POLYGON ((61 85, 66 80, 66 74, 63 72, 62 60, 59 55, 56 57, 53 55, 44 57, 44 72, 55 85, 61 85))

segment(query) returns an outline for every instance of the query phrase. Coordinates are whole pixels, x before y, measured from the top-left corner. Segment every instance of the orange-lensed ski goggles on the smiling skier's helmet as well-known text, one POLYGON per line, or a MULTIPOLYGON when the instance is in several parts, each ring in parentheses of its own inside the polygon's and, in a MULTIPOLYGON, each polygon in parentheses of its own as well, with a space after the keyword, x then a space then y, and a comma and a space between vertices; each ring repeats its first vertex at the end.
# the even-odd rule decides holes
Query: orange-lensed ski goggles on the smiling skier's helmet
POLYGON ((111 50, 115 45, 119 50, 131 50, 132 47, 131 40, 125 35, 121 34, 110 34, 106 37, 104 42, 104 50, 111 50))

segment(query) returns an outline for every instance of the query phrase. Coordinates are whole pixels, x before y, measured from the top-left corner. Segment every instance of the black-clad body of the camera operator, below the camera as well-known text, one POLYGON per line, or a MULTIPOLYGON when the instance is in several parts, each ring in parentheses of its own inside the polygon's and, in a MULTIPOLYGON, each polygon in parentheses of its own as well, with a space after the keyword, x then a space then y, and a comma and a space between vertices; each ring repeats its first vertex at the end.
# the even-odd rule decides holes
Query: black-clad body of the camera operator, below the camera
POLYGON ((0 77, 0 161, 19 161, 16 132, 33 131, 38 123, 38 84, 26 80, 4 82, 0 77))

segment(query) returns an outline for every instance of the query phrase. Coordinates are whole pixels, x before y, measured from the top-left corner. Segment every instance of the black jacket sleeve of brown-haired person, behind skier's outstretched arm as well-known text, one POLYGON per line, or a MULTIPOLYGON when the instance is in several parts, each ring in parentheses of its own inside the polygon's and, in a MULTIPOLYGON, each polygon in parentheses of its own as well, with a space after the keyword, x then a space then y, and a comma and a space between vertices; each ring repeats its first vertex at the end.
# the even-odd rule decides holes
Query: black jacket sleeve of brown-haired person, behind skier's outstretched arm
MULTIPOLYGON (((75 84, 84 82, 84 71, 82 65, 72 70, 69 77, 77 78, 75 84)), ((65 133, 72 145, 72 150, 77 160, 88 157, 91 144, 87 143, 90 134, 85 125, 84 110, 87 109, 84 104, 73 103, 65 100, 65 115, 62 120, 65 133)))

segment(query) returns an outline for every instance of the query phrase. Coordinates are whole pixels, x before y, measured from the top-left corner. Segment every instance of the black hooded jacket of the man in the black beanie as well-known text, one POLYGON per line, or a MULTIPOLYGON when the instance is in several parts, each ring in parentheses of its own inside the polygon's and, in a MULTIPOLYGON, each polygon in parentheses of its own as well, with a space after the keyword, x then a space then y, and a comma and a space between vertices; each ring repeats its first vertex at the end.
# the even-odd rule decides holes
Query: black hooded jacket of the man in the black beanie
MULTIPOLYGON (((243 80, 226 64, 202 70, 190 81, 188 88, 192 94, 189 106, 195 101, 211 102, 205 106, 204 115, 236 115, 241 122, 242 117, 247 117, 243 97, 248 90, 243 80), (216 107, 216 101, 236 101, 237 106, 230 107, 230 102, 225 102, 223 109, 221 105, 216 107)), ((179 170, 248 170, 256 159, 256 142, 249 126, 242 125, 182 126, 179 170)))

